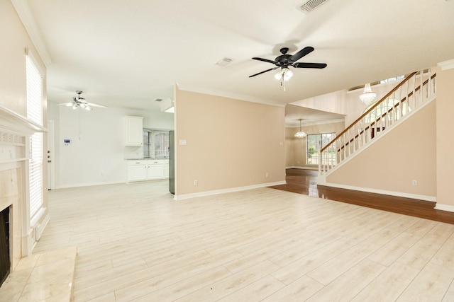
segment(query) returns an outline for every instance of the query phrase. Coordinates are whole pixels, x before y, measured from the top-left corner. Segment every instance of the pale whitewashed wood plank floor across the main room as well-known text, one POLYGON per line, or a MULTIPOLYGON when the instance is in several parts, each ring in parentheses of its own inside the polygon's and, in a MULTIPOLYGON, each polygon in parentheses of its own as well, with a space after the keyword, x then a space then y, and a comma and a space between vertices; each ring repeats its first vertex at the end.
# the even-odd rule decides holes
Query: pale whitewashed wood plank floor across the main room
POLYGON ((35 252, 77 245, 74 301, 454 301, 454 225, 262 188, 50 192, 35 252))

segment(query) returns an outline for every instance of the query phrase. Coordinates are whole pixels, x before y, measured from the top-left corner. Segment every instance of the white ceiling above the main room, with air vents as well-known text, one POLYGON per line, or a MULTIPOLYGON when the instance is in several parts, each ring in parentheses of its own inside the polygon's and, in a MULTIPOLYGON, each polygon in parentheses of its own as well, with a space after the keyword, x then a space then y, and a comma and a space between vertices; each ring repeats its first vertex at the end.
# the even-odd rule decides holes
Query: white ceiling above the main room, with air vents
MULTIPOLYGON (((48 99, 76 90, 109 107, 158 109, 181 88, 286 104, 454 58, 454 0, 28 0, 50 54, 48 99), (315 48, 283 91, 279 48, 315 48), (218 66, 223 57, 233 61, 218 66)), ((301 117, 304 118, 304 117, 301 117)))

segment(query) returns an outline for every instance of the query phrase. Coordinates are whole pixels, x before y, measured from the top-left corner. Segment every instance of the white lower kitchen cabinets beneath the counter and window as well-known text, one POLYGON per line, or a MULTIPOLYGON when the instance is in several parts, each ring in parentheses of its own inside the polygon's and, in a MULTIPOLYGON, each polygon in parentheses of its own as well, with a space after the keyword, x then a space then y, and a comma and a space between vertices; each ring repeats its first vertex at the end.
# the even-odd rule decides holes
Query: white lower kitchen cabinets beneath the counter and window
POLYGON ((144 159, 128 161, 128 182, 143 180, 162 180, 169 178, 168 159, 144 159))

